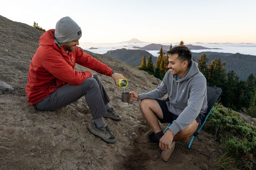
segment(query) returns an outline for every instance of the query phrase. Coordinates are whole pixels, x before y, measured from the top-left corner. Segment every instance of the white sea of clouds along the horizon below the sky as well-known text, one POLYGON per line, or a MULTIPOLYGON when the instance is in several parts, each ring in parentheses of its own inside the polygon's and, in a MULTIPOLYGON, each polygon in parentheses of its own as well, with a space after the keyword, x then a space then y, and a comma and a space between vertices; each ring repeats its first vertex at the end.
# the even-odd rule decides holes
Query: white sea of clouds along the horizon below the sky
MULTIPOLYGON (((135 49, 134 46, 137 47, 144 47, 151 43, 80 43, 79 47, 89 50, 90 52, 97 53, 97 54, 105 54, 108 50, 115 50, 115 49, 135 49), (90 49, 90 48, 97 48, 97 49, 90 49)), ((169 43, 169 44, 162 44, 162 45, 171 45, 175 46, 179 43, 169 43)), ((221 49, 198 49, 198 50, 191 50, 192 52, 219 52, 219 53, 241 53, 241 54, 248 54, 248 55, 255 55, 256 56, 256 44, 251 43, 191 43, 191 45, 195 46, 203 46, 207 48, 221 48, 221 49)), ((185 44, 186 46, 186 44, 185 44)), ((160 50, 160 49, 159 49, 160 50)), ((157 57, 159 50, 148 50, 153 56, 157 57)))

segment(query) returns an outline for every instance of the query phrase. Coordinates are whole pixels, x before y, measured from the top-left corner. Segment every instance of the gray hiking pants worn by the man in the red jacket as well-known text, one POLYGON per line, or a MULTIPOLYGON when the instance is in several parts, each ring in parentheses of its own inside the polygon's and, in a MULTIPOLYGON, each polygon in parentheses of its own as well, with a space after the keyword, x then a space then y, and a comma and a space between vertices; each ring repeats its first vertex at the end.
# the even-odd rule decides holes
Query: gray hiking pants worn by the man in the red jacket
POLYGON ((82 96, 85 96, 93 119, 107 114, 105 105, 110 99, 97 74, 93 74, 93 78, 87 78, 78 86, 67 84, 53 91, 50 96, 34 106, 41 111, 53 111, 73 103, 82 96))

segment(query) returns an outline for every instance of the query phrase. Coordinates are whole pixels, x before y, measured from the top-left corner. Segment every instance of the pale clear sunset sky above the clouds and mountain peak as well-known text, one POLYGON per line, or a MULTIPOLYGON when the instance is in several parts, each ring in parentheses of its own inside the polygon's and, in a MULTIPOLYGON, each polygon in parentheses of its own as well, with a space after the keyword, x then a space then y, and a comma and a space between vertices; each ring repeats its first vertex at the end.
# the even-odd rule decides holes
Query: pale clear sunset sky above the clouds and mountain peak
POLYGON ((70 16, 81 43, 256 43, 255 9, 255 0, 9 0, 0 15, 46 30, 70 16))

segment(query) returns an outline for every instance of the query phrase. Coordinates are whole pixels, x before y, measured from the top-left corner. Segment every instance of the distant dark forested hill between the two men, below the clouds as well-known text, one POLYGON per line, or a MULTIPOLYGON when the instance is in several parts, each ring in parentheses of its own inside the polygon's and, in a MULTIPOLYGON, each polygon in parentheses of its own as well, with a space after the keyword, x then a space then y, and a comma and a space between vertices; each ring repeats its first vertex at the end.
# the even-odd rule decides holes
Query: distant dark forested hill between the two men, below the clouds
MULTIPOLYGON (((146 61, 148 60, 150 53, 148 53, 145 50, 140 49, 116 49, 116 50, 109 50, 104 55, 107 55, 109 57, 112 57, 116 60, 123 61, 127 64, 133 65, 133 66, 140 66, 143 54, 145 53, 146 61)), ((152 56, 152 62, 156 64, 157 58, 152 56)))

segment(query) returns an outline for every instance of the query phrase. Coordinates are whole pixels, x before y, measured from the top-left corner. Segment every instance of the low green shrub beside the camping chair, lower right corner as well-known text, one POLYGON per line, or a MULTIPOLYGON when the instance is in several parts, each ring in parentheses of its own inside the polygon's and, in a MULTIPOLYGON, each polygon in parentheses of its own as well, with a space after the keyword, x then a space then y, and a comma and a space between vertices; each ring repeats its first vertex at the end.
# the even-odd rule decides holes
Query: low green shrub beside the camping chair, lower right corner
POLYGON ((237 166, 256 168, 256 127, 246 123, 239 114, 217 104, 204 130, 215 134, 227 156, 236 158, 237 166))

